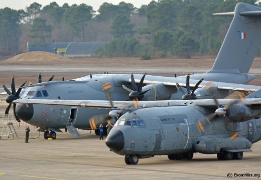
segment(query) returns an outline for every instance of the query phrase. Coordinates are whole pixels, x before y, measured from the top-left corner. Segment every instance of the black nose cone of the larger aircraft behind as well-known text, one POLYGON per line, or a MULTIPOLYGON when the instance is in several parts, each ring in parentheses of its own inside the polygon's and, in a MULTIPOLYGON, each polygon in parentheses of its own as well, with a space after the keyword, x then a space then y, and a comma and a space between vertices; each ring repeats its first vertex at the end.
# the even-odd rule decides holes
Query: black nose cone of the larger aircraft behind
POLYGON ((32 104, 17 104, 16 114, 23 121, 29 121, 34 115, 34 106, 32 104))

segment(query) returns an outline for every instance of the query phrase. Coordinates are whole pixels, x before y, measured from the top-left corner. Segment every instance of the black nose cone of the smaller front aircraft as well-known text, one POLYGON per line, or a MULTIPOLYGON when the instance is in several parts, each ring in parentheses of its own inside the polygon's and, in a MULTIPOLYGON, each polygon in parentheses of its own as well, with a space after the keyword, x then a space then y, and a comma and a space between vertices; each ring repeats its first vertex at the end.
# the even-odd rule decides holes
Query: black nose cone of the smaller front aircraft
POLYGON ((108 137, 105 140, 105 144, 112 151, 120 151, 124 147, 124 135, 120 130, 110 131, 108 137))

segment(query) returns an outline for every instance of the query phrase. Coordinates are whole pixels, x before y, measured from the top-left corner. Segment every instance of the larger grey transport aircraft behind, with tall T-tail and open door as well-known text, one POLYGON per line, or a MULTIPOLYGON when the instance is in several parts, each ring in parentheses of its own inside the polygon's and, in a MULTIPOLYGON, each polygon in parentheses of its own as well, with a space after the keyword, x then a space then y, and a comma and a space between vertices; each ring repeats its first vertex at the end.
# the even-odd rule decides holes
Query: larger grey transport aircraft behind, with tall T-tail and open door
MULTIPOLYGON (((110 91, 109 99, 113 100, 210 99, 211 93, 206 88, 209 81, 212 82, 211 92, 216 94, 217 98, 224 98, 234 90, 257 91, 260 86, 243 84, 254 79, 254 75, 248 74, 248 71, 261 42, 260 19, 255 14, 260 9, 246 4, 239 4, 237 7, 239 6, 241 9, 235 10, 234 18, 215 63, 205 74, 175 78, 149 75, 145 77, 140 74, 136 74, 135 77, 132 74, 129 78, 129 74, 99 74, 69 81, 41 82, 39 80, 39 83, 20 87, 18 91, 15 89, 13 78, 12 91, 4 86, 9 94, 6 101, 10 103, 6 113, 11 104, 14 104, 16 118, 40 127, 39 130, 45 132, 45 138, 55 138, 55 131, 62 132, 61 128, 79 136, 76 128, 94 129, 95 133, 98 133, 97 124, 106 123, 106 120, 110 118, 108 110, 86 109, 81 105, 67 107, 52 105, 52 103, 16 105, 17 101, 14 100, 107 100, 108 93, 104 93, 103 90, 110 91), (188 94, 182 90, 182 87, 187 89, 188 94), (190 91, 190 89, 193 90, 190 91)), ((221 15, 231 16, 232 13, 221 15)), ((113 118, 109 120, 113 121, 113 118)))

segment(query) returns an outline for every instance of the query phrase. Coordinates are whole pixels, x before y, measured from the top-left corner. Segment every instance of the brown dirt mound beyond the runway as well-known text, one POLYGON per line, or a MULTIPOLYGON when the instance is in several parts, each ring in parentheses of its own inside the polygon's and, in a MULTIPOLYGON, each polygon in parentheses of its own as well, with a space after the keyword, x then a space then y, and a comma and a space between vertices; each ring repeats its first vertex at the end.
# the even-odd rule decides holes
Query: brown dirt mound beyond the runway
POLYGON ((26 52, 23 54, 19 54, 12 58, 9 58, 3 63, 15 63, 15 62, 41 62, 41 61, 70 61, 69 58, 59 56, 53 53, 35 51, 35 52, 26 52))

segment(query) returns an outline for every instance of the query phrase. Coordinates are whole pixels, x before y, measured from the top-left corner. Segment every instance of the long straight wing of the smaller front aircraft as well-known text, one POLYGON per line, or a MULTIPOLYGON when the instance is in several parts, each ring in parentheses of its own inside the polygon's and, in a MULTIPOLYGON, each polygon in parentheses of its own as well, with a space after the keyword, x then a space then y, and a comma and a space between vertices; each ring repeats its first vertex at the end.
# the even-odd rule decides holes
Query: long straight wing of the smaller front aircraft
MULTIPOLYGON (((260 98, 251 99, 217 99, 219 106, 227 105, 231 102, 237 101, 238 103, 247 106, 260 106, 260 98)), ((199 99, 199 100, 164 100, 164 101, 112 101, 113 107, 109 101, 104 100, 51 100, 51 99, 18 99, 13 103, 23 104, 43 104, 43 105, 63 105, 63 106, 76 106, 76 107, 90 107, 90 108, 109 108, 120 109, 125 108, 140 108, 140 107, 164 107, 164 106, 186 106, 195 105, 206 108, 217 108, 216 102, 213 99, 199 99)), ((236 104, 238 104, 236 103, 236 104)))

